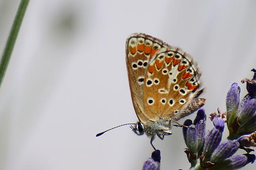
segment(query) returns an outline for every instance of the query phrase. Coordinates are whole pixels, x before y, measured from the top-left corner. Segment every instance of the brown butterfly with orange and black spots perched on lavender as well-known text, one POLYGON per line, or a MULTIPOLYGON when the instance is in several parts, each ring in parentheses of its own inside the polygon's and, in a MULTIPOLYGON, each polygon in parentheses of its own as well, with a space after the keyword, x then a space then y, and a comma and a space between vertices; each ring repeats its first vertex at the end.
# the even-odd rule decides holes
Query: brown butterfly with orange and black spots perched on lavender
POLYGON ((171 135, 171 122, 195 112, 205 103, 198 98, 201 72, 191 55, 182 49, 144 33, 133 33, 126 40, 126 66, 132 102, 139 121, 131 126, 163 140, 171 135))

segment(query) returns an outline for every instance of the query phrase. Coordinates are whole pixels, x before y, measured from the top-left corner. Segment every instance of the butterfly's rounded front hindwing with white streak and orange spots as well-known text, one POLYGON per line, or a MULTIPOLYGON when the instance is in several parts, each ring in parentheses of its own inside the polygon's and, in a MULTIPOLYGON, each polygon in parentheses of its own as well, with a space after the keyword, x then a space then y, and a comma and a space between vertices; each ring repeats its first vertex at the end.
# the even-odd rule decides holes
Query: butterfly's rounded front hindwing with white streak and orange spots
POLYGON ((145 73, 144 110, 149 117, 178 120, 204 105, 200 70, 180 48, 159 51, 145 73))

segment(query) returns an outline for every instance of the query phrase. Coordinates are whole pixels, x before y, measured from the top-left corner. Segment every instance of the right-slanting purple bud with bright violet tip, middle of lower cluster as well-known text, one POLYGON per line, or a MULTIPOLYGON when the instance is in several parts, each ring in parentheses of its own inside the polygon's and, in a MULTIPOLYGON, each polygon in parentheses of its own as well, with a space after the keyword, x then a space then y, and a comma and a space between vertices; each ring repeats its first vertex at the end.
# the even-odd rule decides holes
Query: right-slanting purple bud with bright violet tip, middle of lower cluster
POLYGON ((210 157, 211 153, 221 142, 222 132, 224 129, 224 121, 219 119, 216 123, 215 128, 213 128, 207 135, 204 143, 204 157, 210 157))

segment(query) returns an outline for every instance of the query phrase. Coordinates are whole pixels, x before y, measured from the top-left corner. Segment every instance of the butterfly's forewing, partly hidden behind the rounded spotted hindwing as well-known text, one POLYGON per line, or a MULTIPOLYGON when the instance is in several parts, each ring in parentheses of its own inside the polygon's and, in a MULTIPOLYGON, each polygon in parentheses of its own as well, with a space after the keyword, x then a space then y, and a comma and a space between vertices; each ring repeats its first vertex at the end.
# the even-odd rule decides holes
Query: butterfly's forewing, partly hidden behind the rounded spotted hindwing
POLYGON ((144 110, 143 84, 148 63, 159 51, 166 51, 163 42, 149 35, 134 33, 126 40, 126 66, 132 102, 141 122, 146 122, 148 119, 154 120, 154 117, 144 110))

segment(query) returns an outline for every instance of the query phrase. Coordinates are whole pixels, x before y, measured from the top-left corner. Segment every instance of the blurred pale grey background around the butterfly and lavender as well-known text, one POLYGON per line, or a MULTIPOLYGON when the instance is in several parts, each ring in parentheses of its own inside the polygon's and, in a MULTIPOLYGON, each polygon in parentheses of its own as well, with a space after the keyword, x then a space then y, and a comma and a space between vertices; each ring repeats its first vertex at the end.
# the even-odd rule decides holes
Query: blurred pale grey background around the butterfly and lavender
MULTIPOLYGON (((18 5, 0 0, 1 50, 18 5)), ((256 68, 255 9, 252 0, 31 0, 0 89, 0 169, 141 169, 153 151, 145 135, 124 126, 95 137, 137 121, 128 35, 147 33, 190 53, 203 73, 207 114, 225 111, 231 84, 238 82, 244 96, 240 80, 256 68)), ((181 128, 154 145, 161 170, 189 168, 181 128)))

